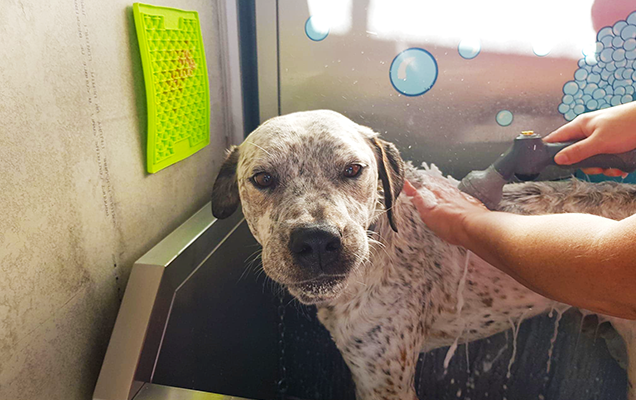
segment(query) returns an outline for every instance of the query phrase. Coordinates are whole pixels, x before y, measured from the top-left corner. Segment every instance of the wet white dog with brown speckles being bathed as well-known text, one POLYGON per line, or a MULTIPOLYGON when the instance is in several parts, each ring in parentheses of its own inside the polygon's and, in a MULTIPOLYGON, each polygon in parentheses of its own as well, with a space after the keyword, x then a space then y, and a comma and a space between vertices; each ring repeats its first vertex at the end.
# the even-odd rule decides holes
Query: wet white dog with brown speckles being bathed
MULTIPOLYGON (((263 123, 229 150, 213 187, 214 216, 226 218, 241 205, 263 248, 265 273, 301 303, 316 305, 359 400, 415 400, 421 352, 567 307, 435 236, 400 196, 405 178, 422 191, 457 185, 406 164, 370 128, 319 110, 263 123)), ((636 188, 511 184, 500 209, 622 219, 636 213, 636 188)), ((636 321, 604 318, 625 340, 629 399, 636 400, 636 321)))

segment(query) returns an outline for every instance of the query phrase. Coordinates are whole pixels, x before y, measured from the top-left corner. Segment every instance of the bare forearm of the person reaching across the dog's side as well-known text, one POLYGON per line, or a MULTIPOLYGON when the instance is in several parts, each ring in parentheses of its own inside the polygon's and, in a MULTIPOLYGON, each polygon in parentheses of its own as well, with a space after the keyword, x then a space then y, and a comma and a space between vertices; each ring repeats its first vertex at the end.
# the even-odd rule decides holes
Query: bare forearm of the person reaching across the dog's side
POLYGON ((636 218, 477 213, 461 244, 554 300, 636 319, 636 218))

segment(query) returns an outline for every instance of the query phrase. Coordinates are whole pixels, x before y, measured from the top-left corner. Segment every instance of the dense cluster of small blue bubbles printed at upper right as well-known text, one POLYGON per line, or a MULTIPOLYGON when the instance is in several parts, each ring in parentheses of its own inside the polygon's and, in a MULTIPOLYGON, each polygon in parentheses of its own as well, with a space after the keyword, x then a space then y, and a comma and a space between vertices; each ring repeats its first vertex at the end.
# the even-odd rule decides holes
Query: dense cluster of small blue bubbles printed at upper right
POLYGON ((636 89, 636 11, 625 21, 598 31, 596 43, 583 49, 574 80, 563 85, 559 113, 577 115, 634 100, 636 89))

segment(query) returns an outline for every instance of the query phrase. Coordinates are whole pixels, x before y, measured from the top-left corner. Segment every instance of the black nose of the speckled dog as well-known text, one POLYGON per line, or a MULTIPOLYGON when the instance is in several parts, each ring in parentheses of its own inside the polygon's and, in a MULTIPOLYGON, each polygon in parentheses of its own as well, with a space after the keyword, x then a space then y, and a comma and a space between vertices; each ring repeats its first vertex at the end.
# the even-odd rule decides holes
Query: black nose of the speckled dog
POLYGON ((340 232, 330 225, 305 225, 292 231, 289 249, 301 266, 329 274, 340 273, 340 232))

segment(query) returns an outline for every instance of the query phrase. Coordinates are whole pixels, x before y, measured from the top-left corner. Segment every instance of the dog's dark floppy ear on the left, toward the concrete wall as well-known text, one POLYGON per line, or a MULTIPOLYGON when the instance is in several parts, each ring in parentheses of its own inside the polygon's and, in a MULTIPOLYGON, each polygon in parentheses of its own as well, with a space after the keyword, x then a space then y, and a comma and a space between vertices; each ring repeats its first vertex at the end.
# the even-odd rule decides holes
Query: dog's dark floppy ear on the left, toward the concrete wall
POLYGON ((238 157, 238 146, 232 146, 212 188, 212 215, 218 219, 232 215, 240 203, 236 180, 238 157))

